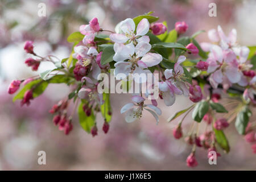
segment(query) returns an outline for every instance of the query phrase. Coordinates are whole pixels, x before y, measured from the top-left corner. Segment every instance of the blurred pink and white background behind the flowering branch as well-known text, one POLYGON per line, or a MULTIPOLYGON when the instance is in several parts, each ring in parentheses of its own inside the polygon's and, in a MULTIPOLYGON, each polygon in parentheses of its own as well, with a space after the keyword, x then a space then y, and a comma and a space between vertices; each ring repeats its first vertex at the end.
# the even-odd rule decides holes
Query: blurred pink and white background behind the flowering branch
MULTIPOLYGON (((11 80, 28 78, 51 64, 40 65, 38 72, 26 67, 29 57, 23 50, 26 40, 34 40, 39 55, 68 57, 71 44, 66 39, 78 31, 80 24, 97 17, 100 26, 114 30, 115 24, 126 18, 154 11, 159 22, 166 20, 168 29, 175 22, 184 20, 189 28, 186 35, 199 30, 208 31, 220 24, 226 34, 236 28, 238 42, 242 45, 256 44, 255 0, 104 0, 104 1, 13 1, 0 0, 0 169, 2 170, 190 170, 185 159, 191 152, 183 139, 175 140, 172 129, 178 121, 167 123, 175 111, 191 105, 188 98, 178 97, 178 102, 166 107, 160 101, 162 115, 159 125, 147 113, 138 122, 126 123, 119 109, 130 96, 112 95, 113 118, 108 134, 101 130, 103 119, 97 115, 98 135, 92 137, 74 119, 73 131, 65 136, 52 123, 48 113, 52 105, 67 96, 65 85, 48 86, 46 92, 34 99, 30 106, 20 107, 7 94, 11 80), (46 17, 38 16, 38 4, 46 3, 46 17), (209 17, 208 5, 217 5, 217 17, 209 17), (113 99, 114 98, 114 99, 113 99), (46 165, 39 165, 38 151, 46 151, 46 165)), ((197 37, 208 42, 207 33, 197 37)), ((184 133, 191 123, 189 115, 184 121, 184 133)), ((203 123, 204 125, 204 123, 203 123)), ((204 126, 200 126, 204 128, 204 126)), ((207 151, 197 148, 199 166, 193 170, 256 169, 256 155, 233 126, 225 131, 231 146, 230 153, 221 152, 217 165, 210 166, 207 151)))

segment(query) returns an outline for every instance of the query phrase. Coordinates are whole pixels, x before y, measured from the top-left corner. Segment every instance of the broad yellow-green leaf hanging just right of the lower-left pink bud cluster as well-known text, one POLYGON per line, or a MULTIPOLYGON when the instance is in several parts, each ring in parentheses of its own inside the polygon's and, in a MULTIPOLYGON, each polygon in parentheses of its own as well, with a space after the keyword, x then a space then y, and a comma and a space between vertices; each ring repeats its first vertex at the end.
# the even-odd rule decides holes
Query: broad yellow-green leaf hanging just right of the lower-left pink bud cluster
POLYGON ((95 115, 92 111, 92 113, 90 114, 90 116, 88 117, 85 112, 84 109, 82 109, 82 106, 84 105, 83 102, 81 102, 81 104, 78 107, 78 115, 79 115, 79 123, 82 126, 82 129, 84 129, 87 133, 90 133, 90 130, 92 129, 92 127, 95 124, 95 115))

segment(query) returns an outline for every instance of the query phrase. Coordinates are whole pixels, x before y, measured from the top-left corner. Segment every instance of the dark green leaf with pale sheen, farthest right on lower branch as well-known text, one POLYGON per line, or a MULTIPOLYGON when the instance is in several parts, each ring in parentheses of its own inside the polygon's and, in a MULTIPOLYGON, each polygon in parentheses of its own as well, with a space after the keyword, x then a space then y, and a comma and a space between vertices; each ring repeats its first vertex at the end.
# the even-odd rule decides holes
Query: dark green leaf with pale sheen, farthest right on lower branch
POLYGON ((245 129, 249 122, 250 116, 251 116, 251 111, 248 108, 248 106, 243 107, 243 109, 237 114, 235 126, 240 135, 245 134, 245 129))

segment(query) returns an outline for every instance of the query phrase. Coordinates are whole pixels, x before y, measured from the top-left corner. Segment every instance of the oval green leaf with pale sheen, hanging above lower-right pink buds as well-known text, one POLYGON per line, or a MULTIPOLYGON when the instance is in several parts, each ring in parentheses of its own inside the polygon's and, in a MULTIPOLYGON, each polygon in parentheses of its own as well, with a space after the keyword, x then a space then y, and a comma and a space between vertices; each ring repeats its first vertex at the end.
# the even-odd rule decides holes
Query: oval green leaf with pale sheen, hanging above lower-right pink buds
POLYGON ((207 101, 201 101, 196 104, 195 109, 193 110, 192 113, 192 118, 196 122, 201 122, 203 119, 204 115, 208 112, 209 110, 209 103, 207 101))

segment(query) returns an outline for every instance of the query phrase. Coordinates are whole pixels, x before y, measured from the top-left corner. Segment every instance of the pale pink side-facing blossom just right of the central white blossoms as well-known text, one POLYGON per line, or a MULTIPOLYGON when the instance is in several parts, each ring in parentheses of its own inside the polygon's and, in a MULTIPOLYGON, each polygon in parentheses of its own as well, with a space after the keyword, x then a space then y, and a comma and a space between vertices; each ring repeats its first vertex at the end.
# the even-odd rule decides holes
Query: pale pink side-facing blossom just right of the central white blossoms
POLYGON ((160 97, 163 98, 164 104, 171 106, 175 102, 175 94, 188 96, 189 90, 187 85, 183 81, 184 70, 180 64, 185 61, 185 56, 180 56, 177 59, 177 63, 174 65, 173 69, 166 69, 164 71, 165 81, 159 82, 160 97))

